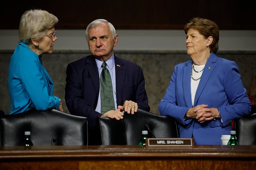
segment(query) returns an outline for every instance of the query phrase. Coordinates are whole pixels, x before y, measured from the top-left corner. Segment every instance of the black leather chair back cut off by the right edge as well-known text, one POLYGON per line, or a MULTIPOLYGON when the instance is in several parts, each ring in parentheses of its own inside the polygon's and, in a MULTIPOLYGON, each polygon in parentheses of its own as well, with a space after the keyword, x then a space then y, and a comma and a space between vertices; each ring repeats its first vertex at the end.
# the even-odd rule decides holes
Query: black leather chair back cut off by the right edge
POLYGON ((256 145, 256 113, 237 119, 234 129, 239 145, 256 145))

